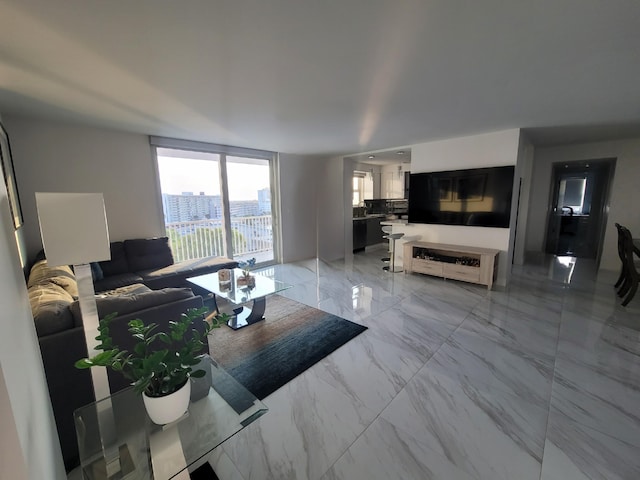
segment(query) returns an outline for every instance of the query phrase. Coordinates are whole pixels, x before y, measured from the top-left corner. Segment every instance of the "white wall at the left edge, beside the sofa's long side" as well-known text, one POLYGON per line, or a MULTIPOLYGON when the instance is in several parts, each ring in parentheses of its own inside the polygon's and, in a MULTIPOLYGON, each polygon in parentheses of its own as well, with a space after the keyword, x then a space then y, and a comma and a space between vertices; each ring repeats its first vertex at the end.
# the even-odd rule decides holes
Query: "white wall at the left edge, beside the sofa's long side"
POLYGON ((9 398, 7 405, 4 392, 0 393, 0 408, 3 422, 9 421, 10 411, 15 425, 15 429, 0 429, 1 477, 19 478, 5 476, 4 469, 19 475, 26 466, 27 478, 33 480, 65 478, 4 182, 0 182, 0 305, 0 368, 9 398), (14 443, 16 432, 18 446, 14 443), (5 455, 16 448, 22 451, 22 457, 13 456, 5 465, 5 455), (26 465, 23 458, 27 459, 26 465))

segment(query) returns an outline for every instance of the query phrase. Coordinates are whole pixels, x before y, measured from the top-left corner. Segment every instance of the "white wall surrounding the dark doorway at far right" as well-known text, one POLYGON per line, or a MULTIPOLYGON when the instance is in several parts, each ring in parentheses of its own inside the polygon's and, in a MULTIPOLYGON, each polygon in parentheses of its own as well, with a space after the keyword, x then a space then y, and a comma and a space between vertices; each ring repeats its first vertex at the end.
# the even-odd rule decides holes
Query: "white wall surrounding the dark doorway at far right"
POLYGON ((527 226, 527 251, 541 252, 544 248, 553 163, 603 158, 616 158, 616 167, 609 196, 609 214, 600 269, 619 269, 614 223, 625 225, 635 236, 640 232, 637 208, 640 204, 640 139, 537 148, 534 154, 533 188, 527 226))

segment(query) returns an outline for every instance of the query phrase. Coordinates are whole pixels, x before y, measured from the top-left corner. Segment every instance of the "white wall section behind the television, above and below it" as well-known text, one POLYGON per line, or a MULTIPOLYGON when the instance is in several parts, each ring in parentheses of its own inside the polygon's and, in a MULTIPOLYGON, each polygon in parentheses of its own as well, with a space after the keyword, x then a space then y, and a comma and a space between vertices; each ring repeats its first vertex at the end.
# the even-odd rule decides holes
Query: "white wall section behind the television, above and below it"
MULTIPOLYGON (((519 139, 519 129, 512 129, 412 145, 411 172, 516 165, 519 139)), ((394 231, 396 231, 395 228, 394 231)), ((513 233, 513 225, 509 229, 412 224, 406 227, 405 235, 426 242, 502 250, 498 259, 496 283, 505 285, 511 271, 511 260, 508 254, 513 233)), ((401 250, 401 245, 398 250, 401 250)))

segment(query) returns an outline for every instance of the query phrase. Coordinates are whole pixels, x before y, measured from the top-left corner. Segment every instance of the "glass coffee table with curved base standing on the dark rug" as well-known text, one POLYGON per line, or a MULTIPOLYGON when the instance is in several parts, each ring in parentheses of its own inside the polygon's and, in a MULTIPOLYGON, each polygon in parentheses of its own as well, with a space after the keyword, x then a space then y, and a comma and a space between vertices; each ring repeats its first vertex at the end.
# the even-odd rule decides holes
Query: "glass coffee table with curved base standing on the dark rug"
POLYGON ((218 311, 218 304, 215 300, 216 296, 222 297, 234 305, 242 305, 249 301, 253 302, 251 308, 239 306, 233 310, 233 316, 231 320, 227 322, 227 325, 234 330, 264 320, 267 296, 292 287, 292 285, 273 280, 257 273, 251 274, 251 277, 254 279, 251 285, 239 284, 238 281, 242 277, 242 270, 234 268, 230 272, 231 275, 228 281, 226 279, 223 281, 220 280, 220 272, 187 278, 187 281, 211 292, 216 305, 216 311, 218 311))

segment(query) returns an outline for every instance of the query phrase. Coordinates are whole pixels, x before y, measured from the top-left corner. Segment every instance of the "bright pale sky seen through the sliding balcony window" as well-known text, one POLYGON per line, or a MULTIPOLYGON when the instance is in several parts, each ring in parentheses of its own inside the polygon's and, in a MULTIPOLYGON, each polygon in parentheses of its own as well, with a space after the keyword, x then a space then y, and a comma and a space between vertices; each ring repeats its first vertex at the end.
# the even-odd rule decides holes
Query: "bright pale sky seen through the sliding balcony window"
MULTIPOLYGON (((158 156, 162 193, 220 195, 218 162, 158 156)), ((269 188, 269 167, 227 163, 229 200, 257 200, 258 190, 269 188)))

